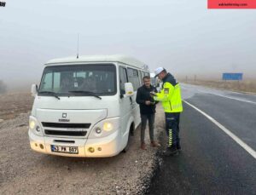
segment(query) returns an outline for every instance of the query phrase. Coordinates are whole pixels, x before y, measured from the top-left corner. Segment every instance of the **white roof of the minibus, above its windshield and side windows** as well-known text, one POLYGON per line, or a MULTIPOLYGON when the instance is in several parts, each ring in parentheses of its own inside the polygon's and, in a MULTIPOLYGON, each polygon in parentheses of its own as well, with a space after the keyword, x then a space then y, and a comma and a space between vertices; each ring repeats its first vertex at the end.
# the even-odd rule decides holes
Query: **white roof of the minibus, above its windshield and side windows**
POLYGON ((59 58, 49 60, 45 65, 46 66, 56 66, 56 65, 63 65, 66 63, 77 63, 77 62, 121 62, 131 66, 137 66, 139 68, 147 69, 146 65, 129 56, 123 54, 113 54, 113 55, 82 55, 77 58, 76 56, 73 57, 66 57, 66 58, 59 58))

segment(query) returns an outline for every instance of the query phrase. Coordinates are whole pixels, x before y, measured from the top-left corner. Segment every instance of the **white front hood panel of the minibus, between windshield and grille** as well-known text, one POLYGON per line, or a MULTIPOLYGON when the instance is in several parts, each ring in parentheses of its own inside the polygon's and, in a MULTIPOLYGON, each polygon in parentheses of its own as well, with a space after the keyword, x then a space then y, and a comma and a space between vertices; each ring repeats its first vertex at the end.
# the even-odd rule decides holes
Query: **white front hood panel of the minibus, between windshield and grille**
POLYGON ((37 96, 34 100, 32 115, 41 122, 94 123, 108 116, 106 100, 95 97, 37 96), (104 104, 105 103, 105 104, 104 104))

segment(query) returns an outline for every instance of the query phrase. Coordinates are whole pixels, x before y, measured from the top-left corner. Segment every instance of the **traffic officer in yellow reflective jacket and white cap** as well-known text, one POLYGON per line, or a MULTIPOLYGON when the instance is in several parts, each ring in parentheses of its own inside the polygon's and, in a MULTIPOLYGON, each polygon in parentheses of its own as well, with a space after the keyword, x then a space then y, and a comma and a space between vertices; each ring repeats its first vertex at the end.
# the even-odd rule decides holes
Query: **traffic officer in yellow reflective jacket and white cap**
POLYGON ((182 98, 179 83, 166 72, 166 69, 159 67, 154 71, 155 77, 163 82, 160 93, 152 93, 154 100, 161 101, 166 115, 166 134, 168 136, 168 146, 164 154, 172 156, 181 150, 179 142, 179 118, 183 112, 182 98))

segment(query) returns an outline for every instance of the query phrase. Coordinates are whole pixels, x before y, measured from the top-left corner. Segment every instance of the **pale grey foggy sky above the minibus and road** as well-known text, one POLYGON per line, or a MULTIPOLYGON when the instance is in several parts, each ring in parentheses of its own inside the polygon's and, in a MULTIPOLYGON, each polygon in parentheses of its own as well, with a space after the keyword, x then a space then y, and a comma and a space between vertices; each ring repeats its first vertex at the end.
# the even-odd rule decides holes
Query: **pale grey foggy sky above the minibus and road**
POLYGON ((127 54, 151 71, 219 79, 256 76, 256 12, 207 9, 207 0, 18 1, 0 7, 0 80, 20 89, 44 63, 79 53, 127 54))

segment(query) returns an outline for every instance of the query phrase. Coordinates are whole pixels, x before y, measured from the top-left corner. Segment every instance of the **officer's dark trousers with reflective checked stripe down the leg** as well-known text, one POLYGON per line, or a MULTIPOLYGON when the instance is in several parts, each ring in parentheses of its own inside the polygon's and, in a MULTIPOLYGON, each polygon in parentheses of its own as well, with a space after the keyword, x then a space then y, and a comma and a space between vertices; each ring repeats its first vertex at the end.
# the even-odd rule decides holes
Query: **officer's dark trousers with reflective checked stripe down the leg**
POLYGON ((166 134, 169 147, 179 145, 179 117, 180 112, 166 112, 166 134))

